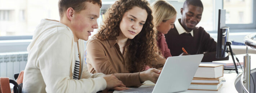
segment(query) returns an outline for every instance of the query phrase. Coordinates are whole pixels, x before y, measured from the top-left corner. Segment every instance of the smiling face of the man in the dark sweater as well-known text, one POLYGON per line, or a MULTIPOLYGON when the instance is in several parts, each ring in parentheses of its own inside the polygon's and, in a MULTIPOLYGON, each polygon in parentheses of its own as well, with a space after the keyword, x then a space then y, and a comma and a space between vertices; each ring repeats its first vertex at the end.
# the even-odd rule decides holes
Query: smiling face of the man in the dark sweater
POLYGON ((187 5, 181 9, 181 24, 185 29, 192 30, 202 18, 203 8, 194 5, 187 5))

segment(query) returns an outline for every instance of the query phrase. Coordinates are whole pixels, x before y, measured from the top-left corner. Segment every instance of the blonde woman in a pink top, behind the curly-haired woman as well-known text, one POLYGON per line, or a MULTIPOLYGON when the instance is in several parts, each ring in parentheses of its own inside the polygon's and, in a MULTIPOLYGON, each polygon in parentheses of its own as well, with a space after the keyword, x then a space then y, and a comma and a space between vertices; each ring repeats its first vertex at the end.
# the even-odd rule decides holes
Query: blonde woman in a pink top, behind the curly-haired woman
POLYGON ((164 58, 171 57, 170 49, 165 41, 164 34, 167 34, 174 26, 177 11, 173 6, 164 0, 155 1, 152 5, 156 29, 158 30, 158 47, 164 58))

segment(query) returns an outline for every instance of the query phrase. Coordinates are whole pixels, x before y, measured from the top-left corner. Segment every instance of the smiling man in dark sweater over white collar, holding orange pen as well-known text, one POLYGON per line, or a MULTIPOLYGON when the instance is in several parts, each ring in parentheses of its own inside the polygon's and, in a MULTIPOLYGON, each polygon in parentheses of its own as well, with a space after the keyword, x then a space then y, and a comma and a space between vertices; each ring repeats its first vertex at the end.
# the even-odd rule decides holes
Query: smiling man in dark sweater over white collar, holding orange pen
POLYGON ((203 4, 200 0, 186 0, 181 8, 182 18, 178 19, 174 28, 165 34, 168 48, 172 56, 204 54, 202 62, 212 62, 216 59, 217 43, 202 27, 196 27, 202 18, 203 4), (185 48, 188 54, 183 53, 185 48))

